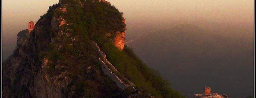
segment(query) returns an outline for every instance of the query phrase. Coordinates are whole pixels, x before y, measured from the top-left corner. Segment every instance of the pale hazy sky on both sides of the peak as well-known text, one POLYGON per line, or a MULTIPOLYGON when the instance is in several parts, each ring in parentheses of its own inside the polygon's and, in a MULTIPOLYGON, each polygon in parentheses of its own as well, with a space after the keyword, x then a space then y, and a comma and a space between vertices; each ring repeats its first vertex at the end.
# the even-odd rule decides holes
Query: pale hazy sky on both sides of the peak
MULTIPOLYGON (((3 35, 35 23, 59 0, 2 0, 3 35)), ((254 0, 107 0, 124 13, 128 25, 177 20, 253 22, 254 0)))

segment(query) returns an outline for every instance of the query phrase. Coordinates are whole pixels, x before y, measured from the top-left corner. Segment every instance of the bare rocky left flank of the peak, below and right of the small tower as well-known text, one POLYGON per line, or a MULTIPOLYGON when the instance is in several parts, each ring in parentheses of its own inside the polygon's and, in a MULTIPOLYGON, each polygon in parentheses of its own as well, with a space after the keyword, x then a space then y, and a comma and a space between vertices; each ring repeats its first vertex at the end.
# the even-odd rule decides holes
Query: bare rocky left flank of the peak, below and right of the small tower
POLYGON ((46 68, 51 61, 41 60, 37 54, 38 50, 44 50, 51 42, 51 33, 45 31, 45 28, 58 31, 59 26, 55 18, 41 18, 34 26, 34 31, 31 26, 28 29, 30 33, 18 34, 17 48, 3 63, 3 98, 64 97, 62 90, 70 82, 70 78, 66 77, 67 72, 49 76, 46 68))

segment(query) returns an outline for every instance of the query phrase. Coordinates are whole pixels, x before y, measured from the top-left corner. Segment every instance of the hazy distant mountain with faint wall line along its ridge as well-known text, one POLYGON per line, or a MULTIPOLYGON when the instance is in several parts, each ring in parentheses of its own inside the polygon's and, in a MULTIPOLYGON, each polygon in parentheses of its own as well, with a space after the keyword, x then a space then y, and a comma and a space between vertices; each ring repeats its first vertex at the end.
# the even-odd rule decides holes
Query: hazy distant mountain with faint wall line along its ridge
POLYGON ((204 86, 230 98, 253 95, 254 49, 249 30, 180 24, 141 35, 126 45, 188 98, 203 93, 204 86))

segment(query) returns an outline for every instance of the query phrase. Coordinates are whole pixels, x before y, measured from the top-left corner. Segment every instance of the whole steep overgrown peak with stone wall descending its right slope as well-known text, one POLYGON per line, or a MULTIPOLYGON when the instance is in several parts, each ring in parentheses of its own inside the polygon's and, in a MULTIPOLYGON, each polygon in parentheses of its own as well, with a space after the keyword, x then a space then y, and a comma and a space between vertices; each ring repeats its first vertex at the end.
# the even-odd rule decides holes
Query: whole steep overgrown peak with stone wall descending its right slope
POLYGON ((125 46, 122 13, 105 0, 50 6, 31 33, 18 34, 17 48, 3 63, 4 98, 151 95, 176 96, 125 46))

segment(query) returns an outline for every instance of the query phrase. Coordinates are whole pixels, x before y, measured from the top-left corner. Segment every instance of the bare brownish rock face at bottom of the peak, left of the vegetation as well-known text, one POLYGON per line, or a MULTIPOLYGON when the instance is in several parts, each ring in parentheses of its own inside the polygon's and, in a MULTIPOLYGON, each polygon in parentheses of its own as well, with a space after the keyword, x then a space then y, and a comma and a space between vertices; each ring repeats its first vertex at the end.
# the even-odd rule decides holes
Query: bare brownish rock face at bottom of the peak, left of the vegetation
POLYGON ((42 61, 41 69, 30 87, 30 94, 38 98, 64 98, 62 90, 71 82, 67 71, 58 76, 49 76, 46 72, 48 62, 48 59, 42 61))

